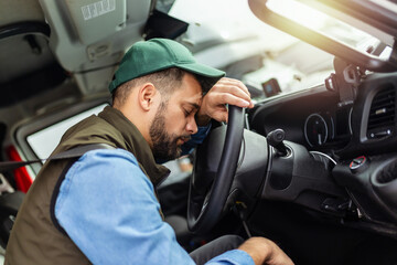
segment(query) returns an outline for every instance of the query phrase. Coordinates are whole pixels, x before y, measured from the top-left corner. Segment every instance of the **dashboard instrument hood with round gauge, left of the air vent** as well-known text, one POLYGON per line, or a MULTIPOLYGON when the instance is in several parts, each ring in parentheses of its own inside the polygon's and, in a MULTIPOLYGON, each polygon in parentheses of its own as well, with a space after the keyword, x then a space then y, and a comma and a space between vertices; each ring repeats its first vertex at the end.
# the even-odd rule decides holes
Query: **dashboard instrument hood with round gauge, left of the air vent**
POLYGON ((318 86, 262 103, 250 116, 261 135, 281 128, 286 139, 310 150, 339 150, 351 140, 353 105, 340 106, 339 94, 318 86))

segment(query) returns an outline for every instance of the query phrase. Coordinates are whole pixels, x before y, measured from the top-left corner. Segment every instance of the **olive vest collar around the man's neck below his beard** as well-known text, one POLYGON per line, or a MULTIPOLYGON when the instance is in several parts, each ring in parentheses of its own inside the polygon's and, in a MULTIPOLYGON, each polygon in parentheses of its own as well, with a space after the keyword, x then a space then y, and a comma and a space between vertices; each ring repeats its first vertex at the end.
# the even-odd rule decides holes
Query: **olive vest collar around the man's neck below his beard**
POLYGON ((168 168, 155 163, 149 144, 146 141, 139 129, 126 118, 120 110, 108 106, 98 114, 98 117, 105 119, 122 135, 125 140, 124 146, 127 147, 127 151, 135 155, 138 162, 141 165, 141 169, 146 171, 154 186, 161 183, 162 180, 170 174, 168 168))

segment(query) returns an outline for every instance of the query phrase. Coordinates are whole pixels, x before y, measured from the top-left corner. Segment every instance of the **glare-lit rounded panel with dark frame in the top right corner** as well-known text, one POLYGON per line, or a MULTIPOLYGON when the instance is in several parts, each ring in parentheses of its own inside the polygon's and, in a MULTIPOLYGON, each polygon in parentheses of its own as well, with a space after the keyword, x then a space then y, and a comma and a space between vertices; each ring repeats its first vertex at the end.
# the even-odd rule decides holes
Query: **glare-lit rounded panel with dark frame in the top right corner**
POLYGON ((265 23, 347 63, 373 72, 397 71, 395 43, 397 4, 391 1, 248 0, 248 2, 254 14, 265 23), (341 28, 348 30, 341 33, 339 31, 341 28))

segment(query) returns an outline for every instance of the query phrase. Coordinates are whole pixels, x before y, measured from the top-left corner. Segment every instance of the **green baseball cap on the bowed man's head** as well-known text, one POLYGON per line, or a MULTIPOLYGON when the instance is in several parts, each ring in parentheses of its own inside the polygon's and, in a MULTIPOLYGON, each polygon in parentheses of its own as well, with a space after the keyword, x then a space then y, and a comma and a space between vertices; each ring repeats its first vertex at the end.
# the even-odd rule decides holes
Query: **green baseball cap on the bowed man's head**
POLYGON ((128 50, 109 84, 109 91, 112 93, 130 80, 171 67, 203 77, 210 87, 225 76, 223 71, 197 63, 182 44, 168 39, 151 39, 137 42, 128 50))

